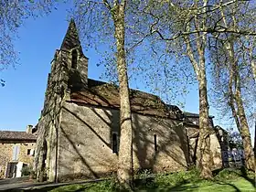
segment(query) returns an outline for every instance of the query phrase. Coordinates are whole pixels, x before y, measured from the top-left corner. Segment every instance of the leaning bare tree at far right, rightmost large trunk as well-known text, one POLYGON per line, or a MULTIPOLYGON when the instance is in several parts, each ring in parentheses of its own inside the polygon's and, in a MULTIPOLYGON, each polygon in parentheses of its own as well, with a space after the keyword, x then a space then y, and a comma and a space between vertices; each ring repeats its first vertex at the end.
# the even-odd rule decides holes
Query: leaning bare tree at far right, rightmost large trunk
POLYGON ((235 44, 231 39, 221 43, 215 53, 211 52, 215 62, 214 98, 219 102, 222 112, 226 112, 226 115, 231 112, 242 138, 247 168, 253 169, 251 134, 244 101, 248 99, 248 94, 255 92, 248 89, 253 87, 251 79, 248 80, 248 67, 241 62, 240 52, 235 51, 235 44))

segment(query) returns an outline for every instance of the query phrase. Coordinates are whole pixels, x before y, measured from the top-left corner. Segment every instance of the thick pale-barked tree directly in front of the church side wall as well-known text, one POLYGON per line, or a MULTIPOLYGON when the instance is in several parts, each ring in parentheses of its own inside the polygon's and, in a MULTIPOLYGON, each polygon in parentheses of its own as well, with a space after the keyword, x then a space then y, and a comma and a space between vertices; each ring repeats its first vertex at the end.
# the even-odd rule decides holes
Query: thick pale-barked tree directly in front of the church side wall
POLYGON ((133 128, 125 52, 126 3, 126 0, 75 1, 76 11, 74 16, 80 24, 80 32, 87 33, 87 37, 91 37, 97 32, 105 35, 105 42, 108 41, 107 38, 114 37, 115 46, 113 49, 116 51, 115 66, 119 80, 121 129, 117 176, 121 187, 132 188, 133 128), (95 22, 98 22, 98 24, 95 22), (83 30, 90 27, 94 28, 93 25, 98 28, 97 31, 83 30), (88 34, 88 32, 93 34, 88 34), (107 37, 106 33, 112 37, 107 37))

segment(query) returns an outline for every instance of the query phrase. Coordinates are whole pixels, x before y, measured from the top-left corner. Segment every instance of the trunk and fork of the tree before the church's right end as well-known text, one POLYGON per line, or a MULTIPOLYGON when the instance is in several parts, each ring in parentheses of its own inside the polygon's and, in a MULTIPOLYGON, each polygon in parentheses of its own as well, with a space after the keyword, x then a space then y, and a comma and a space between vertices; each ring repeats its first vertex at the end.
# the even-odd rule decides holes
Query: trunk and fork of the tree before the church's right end
MULTIPOLYGON (((206 12, 208 1, 203 1, 202 11, 206 12)), ((195 8, 198 8, 199 4, 196 4, 195 8)), ((187 32, 191 28, 204 28, 207 25, 207 17, 200 18, 195 16, 193 21, 187 24, 187 32)), ((212 177, 210 162, 210 130, 208 127, 208 84, 207 84, 207 71, 206 71, 206 46, 207 46, 207 33, 198 32, 196 36, 188 35, 184 36, 187 57, 190 59, 191 64, 195 70, 198 91, 199 91, 199 140, 198 140, 198 154, 197 162, 200 169, 200 175, 204 178, 212 177), (195 43, 193 43, 194 38, 195 43), (193 45, 194 44, 194 45, 193 45), (194 47, 194 48, 193 48, 194 47)))

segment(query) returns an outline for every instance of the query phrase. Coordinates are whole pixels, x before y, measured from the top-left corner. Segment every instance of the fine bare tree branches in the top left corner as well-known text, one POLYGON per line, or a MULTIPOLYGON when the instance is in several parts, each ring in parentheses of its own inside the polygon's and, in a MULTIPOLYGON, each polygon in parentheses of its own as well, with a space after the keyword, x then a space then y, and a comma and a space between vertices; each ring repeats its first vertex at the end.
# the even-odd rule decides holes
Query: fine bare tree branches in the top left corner
MULTIPOLYGON (((18 28, 28 17, 48 13, 54 1, 8 1, 0 2, 0 72, 8 66, 18 63, 18 54, 14 47, 18 28)), ((4 80, 0 84, 5 85, 4 80)))

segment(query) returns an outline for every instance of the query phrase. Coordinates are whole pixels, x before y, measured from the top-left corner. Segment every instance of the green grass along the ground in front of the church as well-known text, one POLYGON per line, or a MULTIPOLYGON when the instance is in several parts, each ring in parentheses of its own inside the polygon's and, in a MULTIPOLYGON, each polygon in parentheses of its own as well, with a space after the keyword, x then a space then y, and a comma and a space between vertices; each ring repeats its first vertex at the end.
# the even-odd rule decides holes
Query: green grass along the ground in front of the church
MULTIPOLYGON (((157 175, 155 178, 148 178, 141 175, 135 181, 135 191, 202 191, 202 192, 240 192, 256 191, 253 187, 253 175, 240 171, 225 169, 214 176, 213 180, 202 180, 198 176, 197 170, 189 172, 179 172, 169 175, 157 175)), ((118 185, 112 181, 89 183, 85 185, 71 185, 57 187, 51 192, 59 191, 120 191, 118 185)))

